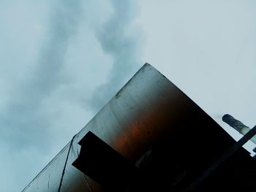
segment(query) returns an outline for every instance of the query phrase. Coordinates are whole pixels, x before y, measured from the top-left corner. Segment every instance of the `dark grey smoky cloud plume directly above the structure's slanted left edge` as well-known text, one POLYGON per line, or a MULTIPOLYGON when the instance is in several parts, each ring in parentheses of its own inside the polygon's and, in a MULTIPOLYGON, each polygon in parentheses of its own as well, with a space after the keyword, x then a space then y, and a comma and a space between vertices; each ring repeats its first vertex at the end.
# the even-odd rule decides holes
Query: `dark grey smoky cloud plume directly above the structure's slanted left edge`
POLYGON ((94 112, 107 104, 141 65, 140 31, 134 31, 138 5, 135 1, 110 2, 113 12, 103 26, 95 28, 95 34, 102 50, 113 58, 113 63, 107 81, 99 85, 89 99, 89 107, 94 112))

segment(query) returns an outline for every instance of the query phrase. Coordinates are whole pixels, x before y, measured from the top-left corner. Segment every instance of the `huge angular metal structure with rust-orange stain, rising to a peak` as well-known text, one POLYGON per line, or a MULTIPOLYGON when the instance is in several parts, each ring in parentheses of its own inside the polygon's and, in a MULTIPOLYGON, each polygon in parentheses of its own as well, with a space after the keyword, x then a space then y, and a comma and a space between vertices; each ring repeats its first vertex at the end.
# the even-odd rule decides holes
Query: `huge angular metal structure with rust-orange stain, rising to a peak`
POLYGON ((23 190, 256 191, 255 159, 149 64, 23 190))

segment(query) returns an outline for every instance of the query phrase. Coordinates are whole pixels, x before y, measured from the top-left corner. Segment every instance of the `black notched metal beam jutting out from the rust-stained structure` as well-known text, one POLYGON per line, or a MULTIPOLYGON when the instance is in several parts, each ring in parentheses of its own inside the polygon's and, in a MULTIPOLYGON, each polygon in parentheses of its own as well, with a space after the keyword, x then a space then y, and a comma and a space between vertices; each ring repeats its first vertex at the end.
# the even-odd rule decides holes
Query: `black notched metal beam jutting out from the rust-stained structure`
POLYGON ((139 170, 135 165, 91 131, 81 141, 79 156, 72 165, 97 181, 102 188, 121 192, 138 176, 139 170))

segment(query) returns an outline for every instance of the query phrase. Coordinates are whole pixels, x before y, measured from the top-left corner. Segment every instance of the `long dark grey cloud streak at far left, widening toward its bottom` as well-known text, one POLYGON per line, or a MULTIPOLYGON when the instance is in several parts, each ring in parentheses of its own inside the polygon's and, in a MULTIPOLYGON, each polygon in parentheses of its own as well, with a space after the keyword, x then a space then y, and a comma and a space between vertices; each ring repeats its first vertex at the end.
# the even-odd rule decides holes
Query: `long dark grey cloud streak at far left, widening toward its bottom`
POLYGON ((15 94, 5 104, 0 123, 7 138, 15 137, 21 145, 39 145, 50 142, 50 119, 43 111, 43 101, 56 91, 65 77, 62 73, 69 41, 79 24, 80 3, 61 1, 51 10, 46 38, 42 43, 31 75, 15 87, 15 94), (44 135, 40 139, 40 136, 44 135))

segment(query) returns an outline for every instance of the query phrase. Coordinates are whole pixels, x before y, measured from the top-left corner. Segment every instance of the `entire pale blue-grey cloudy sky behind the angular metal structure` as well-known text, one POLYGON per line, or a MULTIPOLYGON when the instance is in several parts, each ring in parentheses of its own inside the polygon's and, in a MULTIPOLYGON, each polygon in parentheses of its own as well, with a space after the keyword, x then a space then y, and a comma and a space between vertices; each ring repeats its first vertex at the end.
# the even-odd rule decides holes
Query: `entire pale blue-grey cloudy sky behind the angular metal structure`
POLYGON ((22 191, 146 62, 241 138, 221 118, 255 126, 255 51, 255 1, 0 0, 0 191, 22 191))

